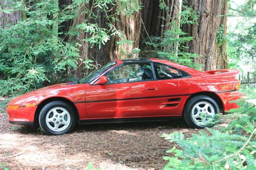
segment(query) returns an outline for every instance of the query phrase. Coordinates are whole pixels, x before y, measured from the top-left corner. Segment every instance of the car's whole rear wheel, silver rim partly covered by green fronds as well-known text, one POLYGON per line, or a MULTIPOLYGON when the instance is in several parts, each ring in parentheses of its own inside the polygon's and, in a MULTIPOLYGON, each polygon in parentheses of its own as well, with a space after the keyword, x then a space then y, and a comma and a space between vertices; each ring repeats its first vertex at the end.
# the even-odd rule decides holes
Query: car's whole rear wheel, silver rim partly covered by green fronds
POLYGON ((199 95, 186 102, 183 118, 191 128, 211 127, 219 111, 219 105, 213 98, 199 95))

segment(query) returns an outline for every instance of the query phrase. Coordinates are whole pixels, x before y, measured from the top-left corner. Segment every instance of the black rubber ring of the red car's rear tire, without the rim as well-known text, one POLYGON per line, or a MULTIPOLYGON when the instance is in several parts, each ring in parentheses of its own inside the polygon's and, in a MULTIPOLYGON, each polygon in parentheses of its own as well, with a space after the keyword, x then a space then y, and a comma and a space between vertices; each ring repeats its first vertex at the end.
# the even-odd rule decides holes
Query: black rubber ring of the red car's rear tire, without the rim
POLYGON ((188 103, 185 106, 185 113, 184 116, 186 116, 185 121, 187 122, 188 125, 192 126, 192 128, 206 128, 206 127, 211 127, 214 126, 214 124, 207 124, 207 125, 198 125, 196 122, 194 122, 193 118, 192 118, 192 109, 194 107, 194 105, 196 105, 199 102, 208 102, 212 105, 215 115, 219 114, 220 110, 219 110, 219 106, 217 104, 217 102, 215 102, 213 100, 213 98, 208 97, 208 96, 196 96, 194 98, 191 98, 190 101, 188 101, 188 103))

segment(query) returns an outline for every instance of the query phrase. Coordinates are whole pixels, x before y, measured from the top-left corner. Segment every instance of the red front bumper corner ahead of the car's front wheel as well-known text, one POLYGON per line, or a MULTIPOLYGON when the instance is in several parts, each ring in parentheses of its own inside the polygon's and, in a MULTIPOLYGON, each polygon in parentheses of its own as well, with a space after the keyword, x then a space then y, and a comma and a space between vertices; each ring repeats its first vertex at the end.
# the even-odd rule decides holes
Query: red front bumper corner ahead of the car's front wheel
POLYGON ((33 107, 18 107, 17 109, 7 108, 9 122, 19 125, 31 125, 35 121, 35 112, 37 106, 33 107))

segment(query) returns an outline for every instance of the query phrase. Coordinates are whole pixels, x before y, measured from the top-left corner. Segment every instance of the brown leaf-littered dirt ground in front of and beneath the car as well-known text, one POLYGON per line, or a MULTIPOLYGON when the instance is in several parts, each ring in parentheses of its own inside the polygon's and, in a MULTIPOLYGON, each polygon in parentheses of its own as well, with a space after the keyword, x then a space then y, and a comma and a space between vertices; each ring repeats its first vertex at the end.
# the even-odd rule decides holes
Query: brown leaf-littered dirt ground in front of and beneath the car
POLYGON ((169 122, 80 125, 70 134, 46 136, 37 128, 11 125, 0 109, 0 169, 163 168, 173 143, 163 133, 190 129, 182 119, 169 122))

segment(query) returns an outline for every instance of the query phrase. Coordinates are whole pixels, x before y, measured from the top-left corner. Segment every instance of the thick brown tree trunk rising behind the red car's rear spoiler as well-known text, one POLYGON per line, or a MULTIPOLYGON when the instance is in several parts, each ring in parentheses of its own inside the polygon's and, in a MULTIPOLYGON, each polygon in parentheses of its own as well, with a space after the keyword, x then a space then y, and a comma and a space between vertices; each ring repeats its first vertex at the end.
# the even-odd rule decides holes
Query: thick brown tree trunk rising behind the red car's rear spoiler
POLYGON ((221 25, 226 34, 227 14, 226 0, 189 0, 188 6, 199 11, 198 25, 184 25, 183 31, 194 37, 187 46, 188 52, 201 55, 194 59, 201 65, 201 70, 222 69, 227 67, 226 43, 218 45, 217 32, 221 25))

